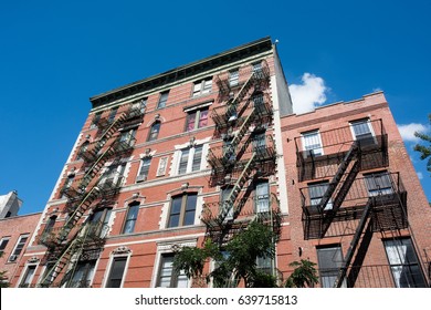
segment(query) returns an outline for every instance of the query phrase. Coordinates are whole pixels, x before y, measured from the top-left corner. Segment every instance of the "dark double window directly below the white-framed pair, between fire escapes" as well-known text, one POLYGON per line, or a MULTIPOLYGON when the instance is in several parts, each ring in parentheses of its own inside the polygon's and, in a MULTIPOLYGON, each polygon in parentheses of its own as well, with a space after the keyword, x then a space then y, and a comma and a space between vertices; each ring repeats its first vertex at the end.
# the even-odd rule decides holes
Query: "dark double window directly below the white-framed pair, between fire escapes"
POLYGON ((195 224, 197 194, 183 194, 172 198, 168 227, 188 226, 195 224))

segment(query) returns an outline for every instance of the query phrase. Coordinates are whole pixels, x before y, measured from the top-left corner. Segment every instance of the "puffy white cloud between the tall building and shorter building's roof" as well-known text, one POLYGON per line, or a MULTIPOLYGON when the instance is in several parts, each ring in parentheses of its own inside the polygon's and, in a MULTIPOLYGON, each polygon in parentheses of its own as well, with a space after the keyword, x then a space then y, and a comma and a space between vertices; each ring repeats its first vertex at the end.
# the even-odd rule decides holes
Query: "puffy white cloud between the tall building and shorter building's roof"
POLYGON ((304 73, 301 78, 302 84, 292 84, 288 86, 293 102, 293 112, 296 114, 311 112, 316 106, 326 102, 326 92, 328 87, 325 81, 311 73, 304 73))

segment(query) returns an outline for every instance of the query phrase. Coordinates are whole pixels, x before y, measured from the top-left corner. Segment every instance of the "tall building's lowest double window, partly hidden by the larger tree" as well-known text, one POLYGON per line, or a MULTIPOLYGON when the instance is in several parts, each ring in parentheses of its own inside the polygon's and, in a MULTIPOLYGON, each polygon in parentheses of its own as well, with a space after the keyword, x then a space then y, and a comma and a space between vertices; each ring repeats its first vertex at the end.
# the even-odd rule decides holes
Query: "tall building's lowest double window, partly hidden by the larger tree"
POLYGON ((183 272, 174 271, 174 254, 162 254, 160 257, 160 270, 157 287, 160 288, 187 288, 189 279, 183 272))

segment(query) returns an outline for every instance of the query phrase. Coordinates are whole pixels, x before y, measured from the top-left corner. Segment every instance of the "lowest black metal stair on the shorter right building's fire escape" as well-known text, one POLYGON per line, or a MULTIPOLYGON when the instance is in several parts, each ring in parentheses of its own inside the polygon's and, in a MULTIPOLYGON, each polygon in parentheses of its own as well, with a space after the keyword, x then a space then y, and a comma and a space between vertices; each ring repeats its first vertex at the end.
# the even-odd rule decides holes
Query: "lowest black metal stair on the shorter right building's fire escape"
POLYGON ((365 206, 362 216, 360 217, 358 227, 356 228, 355 236, 350 242, 349 249, 347 250, 346 256, 343 259, 343 265, 337 275, 337 279, 334 282, 334 288, 340 288, 343 281, 347 275, 347 268, 350 266, 351 259, 354 258, 356 248, 358 247, 360 236, 362 235, 367 219, 369 218, 372 206, 375 205, 375 197, 370 197, 365 206))

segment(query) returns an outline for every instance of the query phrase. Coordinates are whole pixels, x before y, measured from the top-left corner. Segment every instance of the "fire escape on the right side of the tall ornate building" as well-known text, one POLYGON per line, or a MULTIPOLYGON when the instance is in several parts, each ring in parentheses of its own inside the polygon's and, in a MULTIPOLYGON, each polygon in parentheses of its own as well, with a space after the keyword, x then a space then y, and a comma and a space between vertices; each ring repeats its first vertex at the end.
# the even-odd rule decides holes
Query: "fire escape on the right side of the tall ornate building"
MULTIPOLYGON (((276 153, 272 136, 265 132, 273 117, 269 89, 270 70, 266 62, 241 68, 239 83, 231 85, 229 76, 220 75, 217 84, 222 106, 212 111, 214 136, 222 145, 209 149, 212 173, 210 186, 220 186, 222 195, 203 205, 201 220, 207 238, 222 246, 250 220, 265 223, 280 232, 278 199, 266 193, 259 206, 251 195, 259 179, 274 174, 276 153)), ((211 200, 212 199, 212 200, 211 200)))

